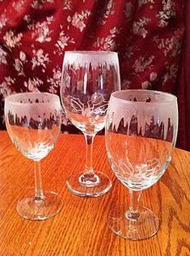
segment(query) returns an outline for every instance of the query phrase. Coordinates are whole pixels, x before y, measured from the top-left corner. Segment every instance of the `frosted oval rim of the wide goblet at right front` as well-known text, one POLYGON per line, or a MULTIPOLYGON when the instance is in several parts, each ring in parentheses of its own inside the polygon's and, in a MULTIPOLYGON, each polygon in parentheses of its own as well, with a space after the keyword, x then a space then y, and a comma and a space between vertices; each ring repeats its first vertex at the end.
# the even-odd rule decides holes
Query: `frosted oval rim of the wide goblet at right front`
POLYGON ((149 89, 123 89, 123 90, 118 90, 118 91, 115 91, 111 94, 111 97, 112 98, 116 98, 117 100, 120 100, 120 102, 124 102, 124 103, 129 103, 129 104, 139 104, 139 105, 144 105, 147 103, 149 103, 149 105, 160 105, 160 104, 171 104, 171 102, 174 102, 174 101, 177 101, 177 97, 174 95, 174 94, 171 94, 171 93, 166 93, 166 92, 162 92, 162 91, 157 91, 157 90, 149 90, 149 89), (130 101, 128 99, 124 99, 124 98, 120 98, 120 93, 126 93, 126 92, 148 92, 148 93, 154 93, 154 94, 162 94, 162 95, 165 95, 167 96, 168 98, 166 99, 166 101, 164 100, 163 102, 133 102, 133 101, 130 101))

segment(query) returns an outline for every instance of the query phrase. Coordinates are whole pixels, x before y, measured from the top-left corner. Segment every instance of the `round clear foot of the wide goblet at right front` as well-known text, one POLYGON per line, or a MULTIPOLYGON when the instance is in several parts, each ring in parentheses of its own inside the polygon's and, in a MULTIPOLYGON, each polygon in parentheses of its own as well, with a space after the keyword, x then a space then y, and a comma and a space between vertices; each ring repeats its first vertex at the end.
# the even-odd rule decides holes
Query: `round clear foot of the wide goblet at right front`
POLYGON ((159 219, 153 211, 140 206, 140 217, 130 220, 126 217, 126 209, 125 205, 116 206, 108 214, 108 227, 116 235, 129 240, 143 240, 158 232, 159 219))

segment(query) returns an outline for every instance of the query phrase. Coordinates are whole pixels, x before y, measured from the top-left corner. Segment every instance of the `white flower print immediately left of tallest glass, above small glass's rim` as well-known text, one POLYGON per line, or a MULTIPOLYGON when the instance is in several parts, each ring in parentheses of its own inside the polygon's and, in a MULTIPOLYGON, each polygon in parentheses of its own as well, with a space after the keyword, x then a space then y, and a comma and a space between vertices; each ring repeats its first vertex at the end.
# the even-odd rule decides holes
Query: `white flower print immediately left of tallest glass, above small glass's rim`
POLYGON ((50 84, 49 93, 59 92, 61 85, 61 68, 53 68, 53 77, 50 77, 47 81, 50 84))

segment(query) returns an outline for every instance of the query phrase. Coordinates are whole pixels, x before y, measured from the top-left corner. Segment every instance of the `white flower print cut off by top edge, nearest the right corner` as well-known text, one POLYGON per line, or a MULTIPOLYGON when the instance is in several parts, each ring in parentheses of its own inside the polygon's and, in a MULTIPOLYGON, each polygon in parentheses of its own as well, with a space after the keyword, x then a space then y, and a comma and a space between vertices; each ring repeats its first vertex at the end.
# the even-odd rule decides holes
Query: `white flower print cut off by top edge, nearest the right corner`
POLYGON ((159 18, 158 27, 160 28, 167 27, 168 20, 176 15, 175 2, 172 0, 163 0, 162 3, 163 11, 159 11, 158 15, 156 15, 159 18))

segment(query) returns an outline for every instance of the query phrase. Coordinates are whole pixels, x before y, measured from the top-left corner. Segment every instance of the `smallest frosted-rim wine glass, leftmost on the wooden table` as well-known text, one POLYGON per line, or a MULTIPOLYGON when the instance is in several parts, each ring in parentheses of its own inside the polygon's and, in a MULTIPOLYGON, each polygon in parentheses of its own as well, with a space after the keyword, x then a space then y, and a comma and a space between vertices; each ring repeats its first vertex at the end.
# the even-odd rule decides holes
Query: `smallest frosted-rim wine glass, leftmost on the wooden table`
POLYGON ((17 93, 5 99, 6 128, 11 141, 26 158, 35 163, 35 193, 17 203, 23 218, 49 219, 62 207, 61 197, 44 191, 40 160, 53 149, 61 128, 61 102, 51 93, 17 93))

